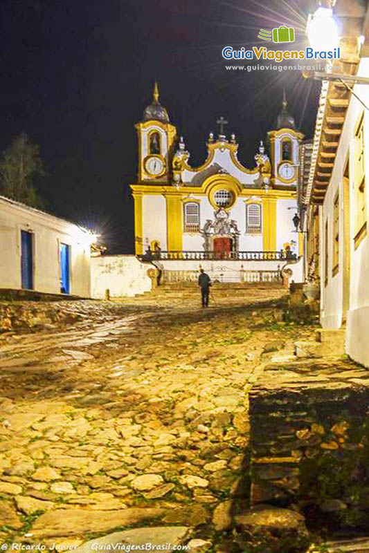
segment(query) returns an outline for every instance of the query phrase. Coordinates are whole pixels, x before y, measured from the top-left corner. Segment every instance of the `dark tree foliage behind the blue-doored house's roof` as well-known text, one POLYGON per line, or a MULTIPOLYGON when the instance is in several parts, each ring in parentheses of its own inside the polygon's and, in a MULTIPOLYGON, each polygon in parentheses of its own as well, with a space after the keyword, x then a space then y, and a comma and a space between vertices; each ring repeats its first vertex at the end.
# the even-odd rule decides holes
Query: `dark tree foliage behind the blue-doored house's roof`
POLYGON ((42 207, 35 181, 44 176, 39 147, 26 133, 17 136, 0 158, 0 194, 32 207, 42 207))

